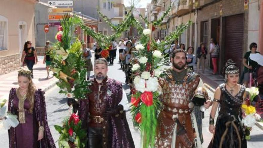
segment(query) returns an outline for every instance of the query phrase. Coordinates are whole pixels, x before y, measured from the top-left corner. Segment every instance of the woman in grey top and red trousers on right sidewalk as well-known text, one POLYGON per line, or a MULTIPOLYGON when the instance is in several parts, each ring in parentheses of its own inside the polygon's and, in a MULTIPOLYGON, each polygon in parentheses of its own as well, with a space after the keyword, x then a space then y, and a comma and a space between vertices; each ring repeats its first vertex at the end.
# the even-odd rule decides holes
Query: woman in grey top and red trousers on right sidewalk
POLYGON ((211 45, 210 45, 210 52, 212 57, 212 63, 213 63, 213 72, 212 74, 215 75, 217 73, 217 61, 219 57, 219 46, 216 42, 216 40, 211 39, 211 45))

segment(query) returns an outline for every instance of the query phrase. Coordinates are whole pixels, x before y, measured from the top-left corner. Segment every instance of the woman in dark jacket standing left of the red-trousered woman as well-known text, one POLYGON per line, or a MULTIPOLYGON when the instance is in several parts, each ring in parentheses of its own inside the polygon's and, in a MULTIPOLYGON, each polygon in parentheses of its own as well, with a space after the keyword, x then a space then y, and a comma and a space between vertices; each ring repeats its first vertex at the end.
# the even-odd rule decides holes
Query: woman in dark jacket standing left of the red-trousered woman
POLYGON ((199 73, 200 70, 200 64, 202 66, 202 72, 205 71, 205 60, 207 58, 207 48, 205 47, 205 43, 201 42, 200 46, 197 49, 197 73, 199 73))

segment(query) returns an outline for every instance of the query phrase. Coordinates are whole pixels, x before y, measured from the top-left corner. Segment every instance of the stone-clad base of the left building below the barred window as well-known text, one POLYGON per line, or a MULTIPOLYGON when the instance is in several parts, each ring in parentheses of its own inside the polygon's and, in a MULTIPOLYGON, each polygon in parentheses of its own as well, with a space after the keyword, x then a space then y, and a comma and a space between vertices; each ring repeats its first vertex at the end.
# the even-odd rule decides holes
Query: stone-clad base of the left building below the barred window
POLYGON ((20 69, 19 54, 0 57, 0 75, 20 69))

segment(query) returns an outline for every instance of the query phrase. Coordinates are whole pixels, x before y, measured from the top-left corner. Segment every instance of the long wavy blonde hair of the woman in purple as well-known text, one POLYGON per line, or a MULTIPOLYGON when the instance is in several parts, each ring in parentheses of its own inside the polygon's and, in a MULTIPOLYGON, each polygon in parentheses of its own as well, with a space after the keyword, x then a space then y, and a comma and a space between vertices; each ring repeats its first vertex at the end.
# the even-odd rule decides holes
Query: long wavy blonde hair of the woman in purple
POLYGON ((29 108, 29 112, 33 112, 33 108, 34 108, 34 100, 35 100, 35 91, 36 91, 36 87, 33 84, 32 78, 31 78, 31 71, 27 71, 27 70, 20 70, 18 71, 18 77, 20 76, 24 76, 27 77, 29 80, 29 85, 27 88, 27 100, 29 101, 30 104, 30 108, 29 108))

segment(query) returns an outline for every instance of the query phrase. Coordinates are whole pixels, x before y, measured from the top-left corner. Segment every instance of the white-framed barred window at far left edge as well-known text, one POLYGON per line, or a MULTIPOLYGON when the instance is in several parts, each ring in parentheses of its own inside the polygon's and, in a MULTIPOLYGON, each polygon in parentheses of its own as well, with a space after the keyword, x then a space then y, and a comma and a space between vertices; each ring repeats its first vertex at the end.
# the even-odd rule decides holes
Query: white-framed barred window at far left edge
POLYGON ((0 21, 0 51, 7 50, 7 23, 0 21))

